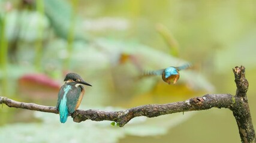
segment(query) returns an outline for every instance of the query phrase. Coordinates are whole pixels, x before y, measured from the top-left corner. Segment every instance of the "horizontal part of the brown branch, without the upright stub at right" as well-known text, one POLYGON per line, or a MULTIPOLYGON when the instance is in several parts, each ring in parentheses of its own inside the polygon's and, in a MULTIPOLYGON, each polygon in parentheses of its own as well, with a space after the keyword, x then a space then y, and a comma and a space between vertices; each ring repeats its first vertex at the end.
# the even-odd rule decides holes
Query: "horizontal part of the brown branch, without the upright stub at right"
MULTIPOLYGON (((141 105, 122 111, 76 110, 71 116, 74 122, 82 122, 88 119, 95 121, 111 120, 119 123, 119 126, 122 127, 129 120, 138 116, 157 117, 185 111, 207 110, 212 107, 230 108, 234 102, 239 101, 239 98, 235 98, 230 94, 207 94, 203 97, 195 97, 183 102, 141 105)), ((58 114, 58 110, 55 107, 17 102, 7 97, 0 97, 0 104, 6 104, 8 107, 58 114)))

